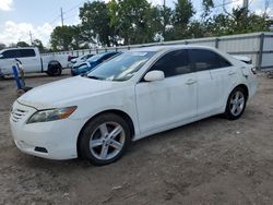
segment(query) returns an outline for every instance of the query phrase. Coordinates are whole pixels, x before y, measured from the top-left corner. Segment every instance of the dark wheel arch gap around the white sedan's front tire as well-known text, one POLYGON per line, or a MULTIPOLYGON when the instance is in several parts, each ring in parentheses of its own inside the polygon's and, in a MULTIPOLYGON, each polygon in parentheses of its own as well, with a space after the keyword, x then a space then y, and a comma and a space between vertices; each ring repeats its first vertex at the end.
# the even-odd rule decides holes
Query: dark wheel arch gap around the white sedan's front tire
POLYGON ((118 109, 109 109, 109 110, 104 110, 104 111, 100 111, 98 113, 96 113, 95 116, 93 116, 92 118, 90 118, 85 123, 84 125, 82 126, 79 135, 78 135, 78 138, 76 138, 76 153, 78 153, 78 156, 81 157, 80 155, 80 136, 84 130, 84 128, 87 125, 87 123, 90 121, 92 121, 93 119, 97 118, 98 116, 100 114, 105 114, 105 113, 116 113, 117 116, 121 117, 122 119, 124 119, 128 124, 129 124, 129 128, 130 128, 130 132, 131 132, 131 138, 133 138, 134 134, 135 134, 135 128, 134 128, 134 124, 133 124, 133 121, 132 121, 132 118, 126 113, 124 111, 122 110, 118 110, 118 109))

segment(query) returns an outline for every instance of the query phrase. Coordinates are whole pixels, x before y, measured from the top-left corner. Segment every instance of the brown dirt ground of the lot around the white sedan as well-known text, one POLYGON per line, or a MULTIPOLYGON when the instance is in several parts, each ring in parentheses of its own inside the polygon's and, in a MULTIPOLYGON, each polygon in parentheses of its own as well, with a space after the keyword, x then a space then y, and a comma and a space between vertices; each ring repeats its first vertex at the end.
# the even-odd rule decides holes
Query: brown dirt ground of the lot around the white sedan
POLYGON ((273 204, 273 80, 259 82, 239 120, 213 117, 156 134, 94 167, 19 152, 9 126, 15 84, 0 81, 0 204, 273 204))

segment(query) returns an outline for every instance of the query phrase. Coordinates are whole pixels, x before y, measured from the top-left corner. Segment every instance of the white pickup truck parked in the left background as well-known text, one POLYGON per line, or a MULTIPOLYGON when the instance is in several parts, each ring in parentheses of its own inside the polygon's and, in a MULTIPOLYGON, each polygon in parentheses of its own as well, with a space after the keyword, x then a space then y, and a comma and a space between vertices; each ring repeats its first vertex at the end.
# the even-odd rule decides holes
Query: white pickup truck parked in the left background
POLYGON ((0 76, 13 74, 12 65, 15 59, 22 62, 25 73, 45 72, 50 76, 58 76, 68 65, 68 55, 40 56, 38 48, 8 48, 0 50, 0 76))

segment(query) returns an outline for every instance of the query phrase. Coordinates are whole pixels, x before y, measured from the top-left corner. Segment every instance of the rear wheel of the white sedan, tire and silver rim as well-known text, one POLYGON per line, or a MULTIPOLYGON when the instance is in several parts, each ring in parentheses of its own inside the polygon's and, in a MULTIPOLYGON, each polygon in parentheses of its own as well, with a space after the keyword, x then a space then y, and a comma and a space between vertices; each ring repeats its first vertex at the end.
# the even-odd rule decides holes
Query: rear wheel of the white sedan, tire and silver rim
POLYGON ((236 87, 227 99, 225 116, 229 120, 239 119, 245 111, 246 105, 247 95, 245 89, 236 87))

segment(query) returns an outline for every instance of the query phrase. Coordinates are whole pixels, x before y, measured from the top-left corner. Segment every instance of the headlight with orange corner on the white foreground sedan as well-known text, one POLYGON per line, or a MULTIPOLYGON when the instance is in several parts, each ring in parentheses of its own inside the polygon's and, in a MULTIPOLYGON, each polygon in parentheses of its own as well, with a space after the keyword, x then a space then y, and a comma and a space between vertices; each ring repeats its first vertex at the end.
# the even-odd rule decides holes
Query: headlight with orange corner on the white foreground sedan
POLYGON ((29 123, 35 123, 35 122, 48 122, 48 121, 54 121, 54 120, 66 119, 73 111, 75 111, 75 109, 76 109, 76 106, 36 111, 27 120, 26 123, 29 124, 29 123))

